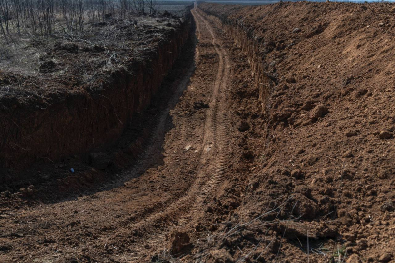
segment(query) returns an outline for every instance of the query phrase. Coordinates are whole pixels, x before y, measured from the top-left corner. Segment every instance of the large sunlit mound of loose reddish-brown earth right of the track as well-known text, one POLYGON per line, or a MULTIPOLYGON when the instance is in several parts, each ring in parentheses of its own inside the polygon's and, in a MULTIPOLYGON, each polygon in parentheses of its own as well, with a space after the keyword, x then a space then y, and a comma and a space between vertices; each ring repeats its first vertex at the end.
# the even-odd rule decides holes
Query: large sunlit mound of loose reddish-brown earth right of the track
POLYGON ((209 257, 394 259, 395 5, 199 7, 244 51, 262 104, 257 118, 258 92, 233 90, 246 187, 209 257))

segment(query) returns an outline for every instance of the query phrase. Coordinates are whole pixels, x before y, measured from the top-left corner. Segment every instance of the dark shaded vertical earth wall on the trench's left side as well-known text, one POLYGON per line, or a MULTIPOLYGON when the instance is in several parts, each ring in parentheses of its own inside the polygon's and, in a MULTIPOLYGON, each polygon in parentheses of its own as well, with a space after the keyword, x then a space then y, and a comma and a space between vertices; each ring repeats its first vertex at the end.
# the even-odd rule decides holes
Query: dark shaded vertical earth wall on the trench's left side
POLYGON ((188 15, 144 61, 131 62, 131 71, 113 72, 100 90, 54 92, 42 107, 17 98, 0 101, 0 182, 8 168, 42 159, 56 162, 114 144, 171 70, 189 38, 191 19, 188 15))

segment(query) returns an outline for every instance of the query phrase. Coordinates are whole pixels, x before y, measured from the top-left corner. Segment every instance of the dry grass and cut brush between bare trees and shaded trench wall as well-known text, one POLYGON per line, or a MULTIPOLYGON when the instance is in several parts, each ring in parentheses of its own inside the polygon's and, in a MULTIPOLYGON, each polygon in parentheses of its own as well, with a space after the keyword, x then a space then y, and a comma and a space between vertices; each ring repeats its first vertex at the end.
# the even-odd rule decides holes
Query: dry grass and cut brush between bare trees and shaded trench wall
POLYGON ((127 68, 131 61, 143 60, 145 54, 156 50, 169 32, 167 22, 157 20, 110 19, 88 24, 83 32, 61 28, 51 36, 15 33, 12 38, 1 38, 0 98, 93 86, 102 76, 127 68))

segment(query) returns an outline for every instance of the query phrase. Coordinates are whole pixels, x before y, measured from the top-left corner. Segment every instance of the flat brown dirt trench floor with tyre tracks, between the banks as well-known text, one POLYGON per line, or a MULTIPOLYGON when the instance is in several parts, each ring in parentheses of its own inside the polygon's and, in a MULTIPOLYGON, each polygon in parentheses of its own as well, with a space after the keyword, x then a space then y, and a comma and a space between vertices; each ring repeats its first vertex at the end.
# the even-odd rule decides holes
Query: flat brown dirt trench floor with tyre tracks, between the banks
POLYGON ((206 215, 206 200, 220 194, 230 160, 232 63, 197 6, 192 14, 195 59, 158 115, 138 164, 110 190, 2 219, 0 242, 9 253, 1 262, 148 261, 168 253, 171 233, 206 215))

